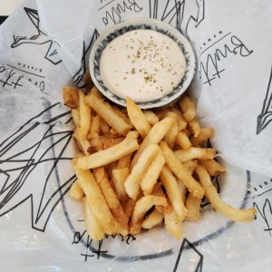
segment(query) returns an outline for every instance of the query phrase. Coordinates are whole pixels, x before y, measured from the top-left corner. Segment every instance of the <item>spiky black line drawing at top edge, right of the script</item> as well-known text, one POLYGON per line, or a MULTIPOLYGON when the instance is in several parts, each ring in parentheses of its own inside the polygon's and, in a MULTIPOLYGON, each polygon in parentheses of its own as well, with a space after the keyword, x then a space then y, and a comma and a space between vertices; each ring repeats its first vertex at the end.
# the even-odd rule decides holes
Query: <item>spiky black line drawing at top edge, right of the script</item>
POLYGON ((150 17, 153 19, 159 19, 161 21, 171 24, 174 22, 175 27, 189 38, 189 27, 197 28, 199 24, 205 19, 205 0, 191 1, 190 4, 194 4, 193 14, 189 14, 186 11, 188 1, 175 0, 174 3, 170 3, 170 0, 150 0, 150 17), (162 8, 162 14, 159 15, 159 9, 162 8))

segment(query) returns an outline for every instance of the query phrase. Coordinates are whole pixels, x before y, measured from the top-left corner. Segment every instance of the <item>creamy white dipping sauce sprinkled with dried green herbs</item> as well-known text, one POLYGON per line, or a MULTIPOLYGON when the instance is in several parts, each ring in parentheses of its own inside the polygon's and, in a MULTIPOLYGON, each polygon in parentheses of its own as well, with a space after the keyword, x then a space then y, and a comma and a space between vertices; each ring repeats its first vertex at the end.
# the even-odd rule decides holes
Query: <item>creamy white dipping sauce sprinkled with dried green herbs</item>
POLYGON ((172 92, 184 76, 186 61, 165 34, 138 29, 112 40, 102 52, 100 72, 106 87, 134 102, 151 102, 172 92))

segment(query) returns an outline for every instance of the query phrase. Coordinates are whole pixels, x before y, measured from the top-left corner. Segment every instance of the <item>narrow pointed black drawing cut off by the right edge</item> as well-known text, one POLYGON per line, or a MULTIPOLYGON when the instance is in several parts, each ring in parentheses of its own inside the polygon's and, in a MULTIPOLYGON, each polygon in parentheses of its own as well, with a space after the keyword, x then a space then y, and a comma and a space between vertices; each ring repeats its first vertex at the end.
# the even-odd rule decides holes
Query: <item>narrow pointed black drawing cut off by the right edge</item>
POLYGON ((269 74, 266 97, 263 102, 262 112, 257 116, 257 130, 256 134, 259 134, 263 131, 268 123, 272 121, 272 66, 269 74))

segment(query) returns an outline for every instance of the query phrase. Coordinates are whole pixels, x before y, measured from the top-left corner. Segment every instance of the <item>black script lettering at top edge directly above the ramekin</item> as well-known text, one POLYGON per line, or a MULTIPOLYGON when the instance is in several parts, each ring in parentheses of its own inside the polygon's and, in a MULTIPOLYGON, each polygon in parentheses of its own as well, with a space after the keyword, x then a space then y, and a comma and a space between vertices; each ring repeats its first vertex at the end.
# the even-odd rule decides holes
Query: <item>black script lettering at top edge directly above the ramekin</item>
MULTIPOLYGON (((104 5, 104 7, 105 6, 106 5, 104 5)), ((107 25, 110 23, 118 24, 118 23, 121 23, 121 15, 124 15, 128 11, 134 12, 134 13, 140 13, 141 10, 142 10, 142 7, 137 4, 136 0, 121 1, 121 4, 112 6, 110 7, 109 10, 106 11, 105 15, 102 17, 102 22, 104 25, 107 25)))

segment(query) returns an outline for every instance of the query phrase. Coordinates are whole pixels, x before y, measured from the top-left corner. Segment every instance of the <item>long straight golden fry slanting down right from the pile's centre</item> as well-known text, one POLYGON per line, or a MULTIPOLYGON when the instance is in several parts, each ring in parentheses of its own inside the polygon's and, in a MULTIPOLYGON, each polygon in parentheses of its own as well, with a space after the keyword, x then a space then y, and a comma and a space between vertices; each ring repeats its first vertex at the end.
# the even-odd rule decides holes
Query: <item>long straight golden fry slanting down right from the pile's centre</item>
POLYGON ((196 198, 202 199, 204 189, 200 186, 199 182, 189 174, 180 160, 176 158, 175 154, 170 150, 167 143, 161 141, 160 149, 164 155, 168 168, 177 178, 182 180, 184 185, 189 189, 189 192, 191 192, 196 198))

